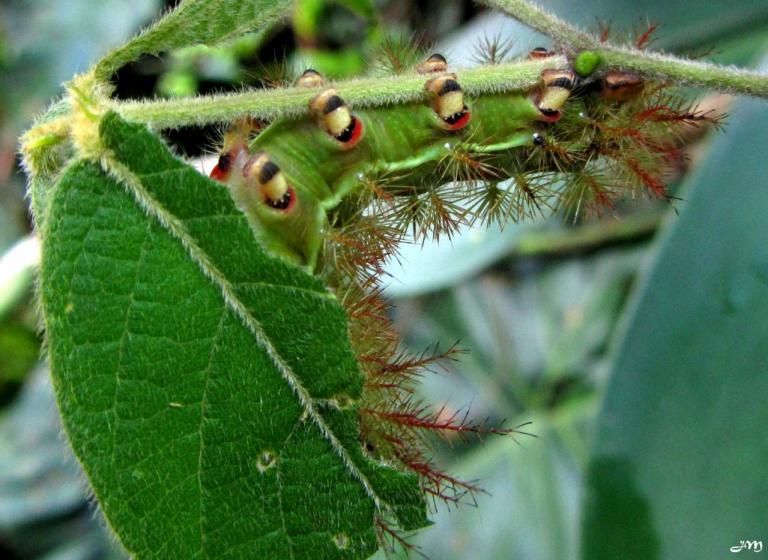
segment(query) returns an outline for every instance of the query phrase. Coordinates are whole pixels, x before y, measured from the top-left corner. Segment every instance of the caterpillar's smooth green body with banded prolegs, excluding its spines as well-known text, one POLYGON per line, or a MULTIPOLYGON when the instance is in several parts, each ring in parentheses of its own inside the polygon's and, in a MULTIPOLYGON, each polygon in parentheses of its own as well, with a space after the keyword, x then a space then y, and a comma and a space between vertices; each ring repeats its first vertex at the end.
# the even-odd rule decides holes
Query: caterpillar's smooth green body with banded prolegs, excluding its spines
MULTIPOLYGON (((311 102, 313 119, 274 122, 250 144, 234 135, 211 175, 231 185, 268 247, 314 268, 330 215, 367 179, 396 176, 397 185, 385 189, 395 196, 412 192, 405 185, 423 190, 457 151, 497 154, 499 171, 520 171, 512 169, 519 163, 515 151, 543 142, 537 130, 559 119, 575 81, 570 70, 547 71, 536 91, 465 100, 445 70, 440 55, 419 66, 434 75, 426 81, 424 104, 352 114, 326 89, 311 102)), ((310 70, 299 84, 317 87, 322 78, 310 70)))

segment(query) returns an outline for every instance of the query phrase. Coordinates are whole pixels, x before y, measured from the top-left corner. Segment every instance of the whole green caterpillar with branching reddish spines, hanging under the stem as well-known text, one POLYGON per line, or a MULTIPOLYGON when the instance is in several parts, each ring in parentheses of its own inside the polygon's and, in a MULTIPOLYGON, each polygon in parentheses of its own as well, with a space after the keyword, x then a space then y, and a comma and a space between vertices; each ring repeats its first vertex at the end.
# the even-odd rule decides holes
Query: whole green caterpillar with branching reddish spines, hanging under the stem
POLYGON ((211 177, 228 185, 269 249, 323 277, 344 304, 366 379, 364 451, 416 472, 428 494, 458 501, 475 488, 425 458, 422 432, 515 430, 430 412, 414 399, 420 368, 456 349, 399 350, 379 297, 384 259, 409 231, 451 235, 462 223, 546 208, 578 216, 626 194, 666 197, 677 134, 714 119, 627 72, 547 70, 530 90, 470 99, 442 55, 414 71, 425 78, 423 103, 354 110, 307 70, 297 85, 318 90, 309 117, 273 122, 255 137, 238 123, 211 177))

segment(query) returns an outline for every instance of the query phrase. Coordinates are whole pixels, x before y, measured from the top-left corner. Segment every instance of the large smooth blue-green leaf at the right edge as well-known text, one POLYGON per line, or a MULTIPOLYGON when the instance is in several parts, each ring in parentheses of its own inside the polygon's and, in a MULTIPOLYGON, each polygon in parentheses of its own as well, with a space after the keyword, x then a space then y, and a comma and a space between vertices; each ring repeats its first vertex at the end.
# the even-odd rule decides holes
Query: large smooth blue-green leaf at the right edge
POLYGON ((725 558, 768 519, 768 107, 744 100, 691 177, 598 421, 583 558, 725 558))

